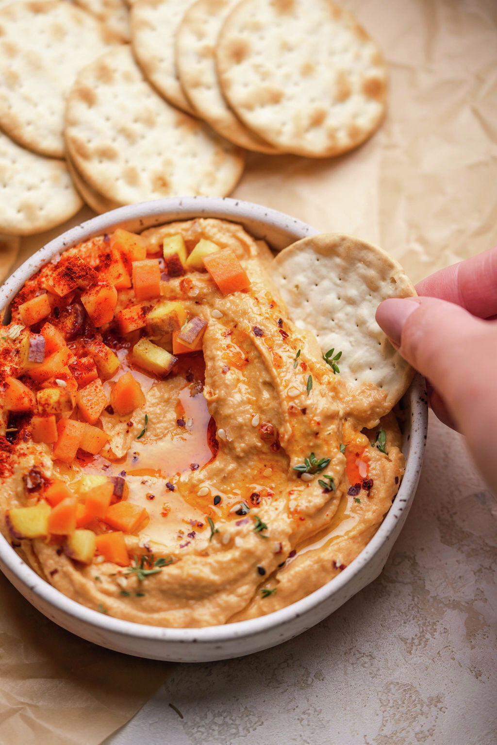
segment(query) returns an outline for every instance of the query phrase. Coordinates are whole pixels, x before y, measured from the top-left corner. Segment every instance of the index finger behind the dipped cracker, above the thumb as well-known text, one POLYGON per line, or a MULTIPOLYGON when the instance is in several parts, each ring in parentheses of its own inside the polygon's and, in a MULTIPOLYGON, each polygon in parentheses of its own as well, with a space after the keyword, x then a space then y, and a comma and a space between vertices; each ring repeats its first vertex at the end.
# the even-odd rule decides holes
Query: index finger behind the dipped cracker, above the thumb
POLYGON ((497 314, 497 247, 440 269, 416 285, 417 294, 455 302, 474 316, 497 314))

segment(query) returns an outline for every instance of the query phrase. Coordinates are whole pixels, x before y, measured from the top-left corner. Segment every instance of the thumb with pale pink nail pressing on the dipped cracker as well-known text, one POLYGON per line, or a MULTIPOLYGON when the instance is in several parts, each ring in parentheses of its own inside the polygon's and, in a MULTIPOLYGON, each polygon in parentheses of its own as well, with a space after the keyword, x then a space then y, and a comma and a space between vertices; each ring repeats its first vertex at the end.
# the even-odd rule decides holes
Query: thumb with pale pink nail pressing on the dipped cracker
MULTIPOLYGON (((433 297, 384 300, 376 321, 403 358, 443 397, 488 478, 487 457, 496 460, 497 448, 497 437, 496 442, 490 443, 493 436, 489 440, 497 421, 497 322, 475 318, 459 305, 433 297)), ((490 478, 494 483, 495 470, 490 478)))

